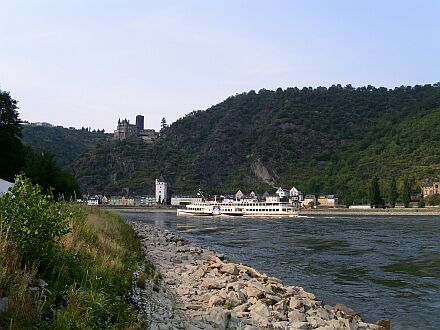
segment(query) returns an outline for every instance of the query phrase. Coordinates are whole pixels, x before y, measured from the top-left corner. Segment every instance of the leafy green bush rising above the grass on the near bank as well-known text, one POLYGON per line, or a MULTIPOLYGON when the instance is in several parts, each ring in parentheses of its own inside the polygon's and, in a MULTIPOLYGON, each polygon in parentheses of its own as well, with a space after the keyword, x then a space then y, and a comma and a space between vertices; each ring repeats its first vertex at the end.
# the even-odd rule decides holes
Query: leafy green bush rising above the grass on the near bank
POLYGON ((65 208, 22 175, 0 198, 0 225, 9 230, 25 262, 49 260, 57 251, 58 240, 69 232, 65 208))

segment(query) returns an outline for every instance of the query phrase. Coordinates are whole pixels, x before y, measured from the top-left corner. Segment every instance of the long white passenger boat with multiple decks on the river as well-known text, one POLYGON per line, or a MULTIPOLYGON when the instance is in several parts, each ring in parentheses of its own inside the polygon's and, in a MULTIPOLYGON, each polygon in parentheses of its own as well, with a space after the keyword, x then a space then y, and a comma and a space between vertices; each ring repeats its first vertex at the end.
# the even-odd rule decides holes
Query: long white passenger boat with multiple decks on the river
POLYGON ((283 202, 207 201, 191 203, 184 209, 177 209, 177 215, 295 217, 298 216, 298 210, 293 205, 283 202))

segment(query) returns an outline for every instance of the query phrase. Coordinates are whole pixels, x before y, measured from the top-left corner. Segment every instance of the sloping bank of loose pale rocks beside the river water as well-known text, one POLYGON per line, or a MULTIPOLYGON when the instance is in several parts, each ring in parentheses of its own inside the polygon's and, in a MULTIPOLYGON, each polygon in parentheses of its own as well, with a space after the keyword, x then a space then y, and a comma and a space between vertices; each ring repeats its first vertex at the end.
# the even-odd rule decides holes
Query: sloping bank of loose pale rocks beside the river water
POLYGON ((384 329, 173 233, 129 223, 162 275, 133 292, 150 329, 384 329))

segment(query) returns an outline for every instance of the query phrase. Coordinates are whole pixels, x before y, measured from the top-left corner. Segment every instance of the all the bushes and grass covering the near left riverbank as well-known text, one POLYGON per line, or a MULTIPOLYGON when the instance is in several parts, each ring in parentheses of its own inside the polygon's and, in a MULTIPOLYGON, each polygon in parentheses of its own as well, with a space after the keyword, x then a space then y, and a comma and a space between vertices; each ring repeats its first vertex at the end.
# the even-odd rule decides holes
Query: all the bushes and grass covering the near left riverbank
POLYGON ((0 198, 0 328, 138 328, 124 295, 140 260, 118 216, 57 203, 18 178, 0 198))

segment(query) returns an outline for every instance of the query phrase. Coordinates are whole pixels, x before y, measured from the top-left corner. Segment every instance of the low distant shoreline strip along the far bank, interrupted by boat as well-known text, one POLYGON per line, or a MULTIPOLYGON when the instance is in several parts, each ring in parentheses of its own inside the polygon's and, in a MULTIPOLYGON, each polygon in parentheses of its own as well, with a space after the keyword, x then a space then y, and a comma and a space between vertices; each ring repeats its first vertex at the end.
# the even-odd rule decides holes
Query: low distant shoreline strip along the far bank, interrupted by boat
MULTIPOLYGON (((101 209, 114 212, 133 213, 176 213, 176 208, 142 207, 142 206, 100 206, 101 209)), ((394 208, 394 209, 306 209, 301 210, 302 216, 440 216, 440 208, 394 208)))

